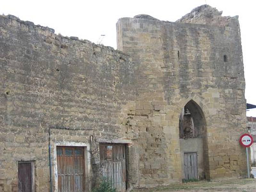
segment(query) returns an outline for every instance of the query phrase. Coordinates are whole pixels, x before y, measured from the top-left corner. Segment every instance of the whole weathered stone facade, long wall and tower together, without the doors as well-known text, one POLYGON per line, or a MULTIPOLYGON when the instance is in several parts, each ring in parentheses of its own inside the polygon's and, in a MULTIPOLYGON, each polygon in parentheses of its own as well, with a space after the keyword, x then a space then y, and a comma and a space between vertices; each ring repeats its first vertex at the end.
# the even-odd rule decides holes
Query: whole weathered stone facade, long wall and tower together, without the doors
POLYGON ((100 142, 127 145, 128 188, 181 182, 179 117, 188 102, 204 121, 207 179, 245 175, 242 49, 238 20, 229 21, 122 18, 120 52, 0 16, 0 189, 17 191, 18 162, 33 161, 35 190, 50 190, 51 164, 56 191, 57 145, 86 147, 91 188, 100 142))

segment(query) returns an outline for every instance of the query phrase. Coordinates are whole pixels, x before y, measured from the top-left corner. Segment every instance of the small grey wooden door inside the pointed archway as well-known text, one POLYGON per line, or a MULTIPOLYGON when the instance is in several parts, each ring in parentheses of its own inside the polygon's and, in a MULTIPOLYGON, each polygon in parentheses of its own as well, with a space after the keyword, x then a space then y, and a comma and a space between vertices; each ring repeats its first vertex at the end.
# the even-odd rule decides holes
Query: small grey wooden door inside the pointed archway
POLYGON ((198 179, 197 176, 197 153, 184 153, 185 179, 198 179))

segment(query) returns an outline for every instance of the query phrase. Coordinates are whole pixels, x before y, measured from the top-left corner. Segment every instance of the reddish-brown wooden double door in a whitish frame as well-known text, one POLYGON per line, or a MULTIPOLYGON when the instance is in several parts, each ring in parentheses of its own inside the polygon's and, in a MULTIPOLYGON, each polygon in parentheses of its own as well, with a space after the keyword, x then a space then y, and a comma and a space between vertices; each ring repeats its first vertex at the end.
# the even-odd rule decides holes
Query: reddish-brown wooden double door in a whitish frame
POLYGON ((84 148, 57 147, 59 192, 84 192, 84 148))

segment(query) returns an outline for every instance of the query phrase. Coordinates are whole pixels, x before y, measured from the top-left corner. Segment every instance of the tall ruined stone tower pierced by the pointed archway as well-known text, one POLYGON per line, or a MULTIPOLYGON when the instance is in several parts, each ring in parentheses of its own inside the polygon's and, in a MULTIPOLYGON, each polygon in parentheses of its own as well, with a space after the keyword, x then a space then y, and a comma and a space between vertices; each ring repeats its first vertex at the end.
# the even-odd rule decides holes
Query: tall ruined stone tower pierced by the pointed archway
MULTIPOLYGON (((186 178, 184 158, 195 151, 199 178, 245 172, 244 149, 238 143, 246 127, 240 28, 238 16, 221 13, 202 5, 176 22, 137 15, 116 24, 117 48, 135 60, 141 74, 140 100, 159 102, 156 93, 164 98, 153 116, 162 123, 154 131, 164 133, 160 150, 165 161, 158 164, 157 153, 141 151, 141 184, 186 178), (198 132, 185 139, 179 136, 184 107, 198 132)), ((150 134, 145 138, 150 140, 150 134)), ((144 140, 138 143, 143 145, 144 140)))

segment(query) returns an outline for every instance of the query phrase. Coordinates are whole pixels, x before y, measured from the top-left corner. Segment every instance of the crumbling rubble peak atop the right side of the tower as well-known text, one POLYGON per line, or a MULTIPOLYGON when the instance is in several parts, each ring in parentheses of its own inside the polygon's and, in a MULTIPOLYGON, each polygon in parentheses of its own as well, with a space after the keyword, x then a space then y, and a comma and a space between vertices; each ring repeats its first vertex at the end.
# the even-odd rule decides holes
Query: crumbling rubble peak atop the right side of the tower
POLYGON ((213 8, 210 5, 204 4, 199 7, 196 7, 190 13, 184 15, 176 22, 227 26, 231 20, 238 21, 238 16, 222 17, 221 15, 222 15, 222 11, 218 11, 216 8, 213 8))

